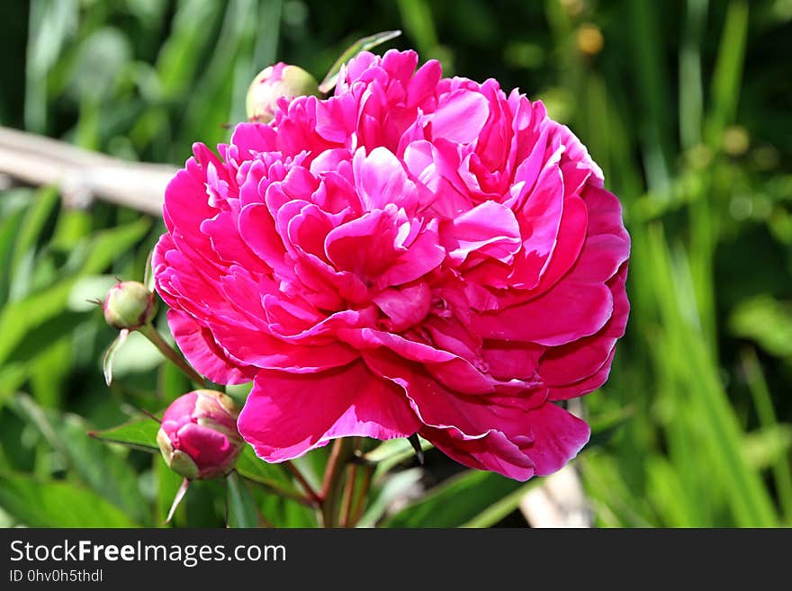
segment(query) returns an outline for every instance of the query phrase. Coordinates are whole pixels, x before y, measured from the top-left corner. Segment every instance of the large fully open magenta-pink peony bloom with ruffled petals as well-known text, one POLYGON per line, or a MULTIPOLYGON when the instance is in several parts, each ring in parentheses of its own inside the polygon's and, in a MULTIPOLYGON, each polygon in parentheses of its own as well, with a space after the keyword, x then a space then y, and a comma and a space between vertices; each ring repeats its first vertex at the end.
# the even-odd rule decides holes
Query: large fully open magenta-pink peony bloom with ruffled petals
POLYGON ((589 426, 629 305, 617 198, 572 132, 495 80, 363 53, 334 96, 281 99, 166 191, 157 291, 191 363, 254 381, 266 461, 419 433, 529 479, 589 426))

